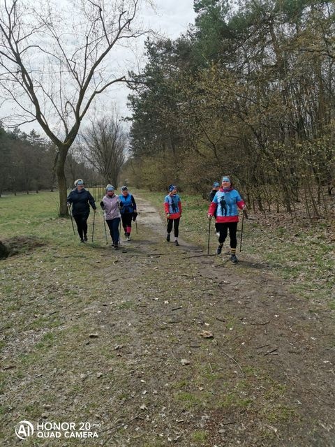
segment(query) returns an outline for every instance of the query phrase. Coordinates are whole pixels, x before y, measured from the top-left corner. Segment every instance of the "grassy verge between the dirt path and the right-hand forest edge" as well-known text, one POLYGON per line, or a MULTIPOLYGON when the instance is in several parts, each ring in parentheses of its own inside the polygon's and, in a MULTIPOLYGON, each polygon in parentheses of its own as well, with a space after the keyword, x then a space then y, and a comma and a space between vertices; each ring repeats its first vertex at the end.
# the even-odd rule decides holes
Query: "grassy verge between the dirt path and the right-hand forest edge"
MULTIPOLYGON (((164 192, 138 191, 150 200, 162 219, 164 192)), ((134 192, 135 193, 135 192, 134 192)), ((209 203, 200 196, 181 193, 184 212, 180 235, 188 242, 207 248, 207 210, 209 203)), ((290 283, 292 292, 301 297, 322 302, 335 309, 335 225, 329 221, 315 221, 306 226, 304 221, 291 223, 288 214, 261 214, 248 211, 244 219, 242 252, 239 254, 241 223, 238 227, 237 255, 254 262, 264 262, 275 274, 290 283)), ((335 216, 334 216, 335 219, 335 216)), ((229 239, 229 238, 228 238, 229 239)), ((211 253, 215 252, 217 238, 211 225, 211 253)), ((225 242, 229 247, 229 241, 225 242)))

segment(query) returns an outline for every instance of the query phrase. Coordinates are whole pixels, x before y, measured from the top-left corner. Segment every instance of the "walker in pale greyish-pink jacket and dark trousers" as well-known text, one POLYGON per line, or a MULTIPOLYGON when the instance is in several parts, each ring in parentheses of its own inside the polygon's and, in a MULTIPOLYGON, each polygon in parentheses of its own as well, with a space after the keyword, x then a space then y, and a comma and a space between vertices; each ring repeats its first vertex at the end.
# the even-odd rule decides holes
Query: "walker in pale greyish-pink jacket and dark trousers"
POLYGON ((119 224, 121 220, 120 199, 114 193, 114 186, 111 184, 107 184, 106 194, 103 200, 101 200, 100 206, 104 211, 108 228, 110 228, 110 235, 113 241, 112 245, 117 250, 119 248, 119 224))

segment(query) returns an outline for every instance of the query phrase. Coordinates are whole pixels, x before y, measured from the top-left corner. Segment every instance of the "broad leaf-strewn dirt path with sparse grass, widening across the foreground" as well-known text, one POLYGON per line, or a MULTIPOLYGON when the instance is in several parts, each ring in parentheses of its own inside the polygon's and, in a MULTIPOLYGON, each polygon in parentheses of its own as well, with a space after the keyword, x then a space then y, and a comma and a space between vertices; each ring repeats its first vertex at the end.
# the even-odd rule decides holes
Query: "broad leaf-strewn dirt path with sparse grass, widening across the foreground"
POLYGON ((29 405, 36 420, 101 426, 95 441, 29 446, 334 446, 334 312, 252 259, 174 247, 154 207, 136 200, 133 241, 84 247, 89 284, 76 272, 56 286, 45 277, 46 315, 61 322, 47 349, 36 351, 43 332, 18 311, 27 325, 8 332, 7 432, 29 405))

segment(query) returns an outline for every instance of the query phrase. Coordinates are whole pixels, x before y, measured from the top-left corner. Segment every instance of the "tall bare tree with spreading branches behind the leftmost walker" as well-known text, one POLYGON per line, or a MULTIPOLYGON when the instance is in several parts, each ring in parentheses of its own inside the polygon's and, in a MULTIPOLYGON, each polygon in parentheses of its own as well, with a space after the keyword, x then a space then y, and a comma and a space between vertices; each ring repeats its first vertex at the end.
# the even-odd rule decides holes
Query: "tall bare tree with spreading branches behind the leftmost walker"
POLYGON ((11 124, 37 121, 57 147, 63 216, 68 150, 96 96, 127 82, 108 56, 145 33, 135 25, 140 1, 0 0, 0 93, 20 110, 11 124))

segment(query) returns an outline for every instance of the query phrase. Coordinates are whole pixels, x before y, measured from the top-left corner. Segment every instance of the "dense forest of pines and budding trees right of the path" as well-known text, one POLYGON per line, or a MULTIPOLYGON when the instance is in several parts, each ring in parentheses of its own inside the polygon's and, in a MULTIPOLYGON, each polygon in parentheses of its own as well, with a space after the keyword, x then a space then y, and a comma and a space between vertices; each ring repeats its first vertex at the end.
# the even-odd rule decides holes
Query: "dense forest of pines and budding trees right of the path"
POLYGON ((229 174, 249 207, 327 216, 334 185, 332 1, 195 0, 195 25, 147 41, 132 73, 135 186, 207 196, 229 174))

